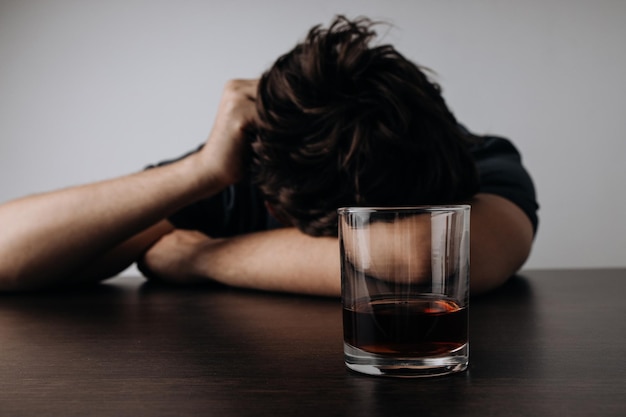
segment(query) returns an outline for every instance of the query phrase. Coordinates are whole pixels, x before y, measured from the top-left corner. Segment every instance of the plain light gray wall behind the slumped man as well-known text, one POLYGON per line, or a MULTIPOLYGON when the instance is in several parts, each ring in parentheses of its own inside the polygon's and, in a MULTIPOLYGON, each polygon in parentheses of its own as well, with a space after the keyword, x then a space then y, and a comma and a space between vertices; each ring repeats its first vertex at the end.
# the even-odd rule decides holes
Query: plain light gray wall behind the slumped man
POLYGON ((0 202, 194 147, 226 80, 337 13, 393 23, 461 121, 520 148, 542 205, 528 268, 626 266, 621 0, 0 0, 0 202))

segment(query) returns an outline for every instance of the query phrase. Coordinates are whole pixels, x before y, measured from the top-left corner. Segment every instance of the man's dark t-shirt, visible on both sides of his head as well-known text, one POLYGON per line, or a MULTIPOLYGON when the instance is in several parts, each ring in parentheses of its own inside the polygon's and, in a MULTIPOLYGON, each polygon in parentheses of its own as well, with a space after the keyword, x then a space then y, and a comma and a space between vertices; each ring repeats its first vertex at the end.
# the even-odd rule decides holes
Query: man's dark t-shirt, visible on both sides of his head
MULTIPOLYGON (((515 203, 526 213, 536 231, 539 205, 535 187, 515 146, 505 138, 484 136, 472 145, 470 151, 479 173, 478 192, 496 194, 515 203)), ((246 181, 185 207, 169 220, 178 228, 199 230, 213 237, 281 227, 268 213, 256 187, 246 181)))

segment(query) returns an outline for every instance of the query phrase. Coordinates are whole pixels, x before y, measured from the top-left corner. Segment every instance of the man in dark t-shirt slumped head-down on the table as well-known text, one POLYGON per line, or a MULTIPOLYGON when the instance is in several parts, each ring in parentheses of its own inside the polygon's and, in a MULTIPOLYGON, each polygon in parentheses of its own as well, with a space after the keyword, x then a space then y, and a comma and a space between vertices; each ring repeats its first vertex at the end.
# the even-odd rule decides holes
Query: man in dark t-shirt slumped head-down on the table
POLYGON ((172 283, 339 295, 336 209, 472 205, 472 291, 531 249, 534 188, 504 139, 462 128, 373 24, 338 17, 257 80, 229 82, 205 145, 133 175, 0 207, 0 289, 172 283), (279 227, 282 224, 283 227, 279 227))

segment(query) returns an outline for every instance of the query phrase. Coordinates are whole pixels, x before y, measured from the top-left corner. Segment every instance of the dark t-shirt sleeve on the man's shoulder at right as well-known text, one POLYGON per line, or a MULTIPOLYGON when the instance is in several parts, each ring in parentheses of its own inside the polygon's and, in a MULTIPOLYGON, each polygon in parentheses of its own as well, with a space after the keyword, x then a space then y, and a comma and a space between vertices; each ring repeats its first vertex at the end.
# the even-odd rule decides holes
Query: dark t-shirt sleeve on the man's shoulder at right
POLYGON ((480 177, 480 192, 496 194, 520 207, 537 231, 539 204, 533 180, 515 146, 507 139, 485 136, 472 149, 480 177))

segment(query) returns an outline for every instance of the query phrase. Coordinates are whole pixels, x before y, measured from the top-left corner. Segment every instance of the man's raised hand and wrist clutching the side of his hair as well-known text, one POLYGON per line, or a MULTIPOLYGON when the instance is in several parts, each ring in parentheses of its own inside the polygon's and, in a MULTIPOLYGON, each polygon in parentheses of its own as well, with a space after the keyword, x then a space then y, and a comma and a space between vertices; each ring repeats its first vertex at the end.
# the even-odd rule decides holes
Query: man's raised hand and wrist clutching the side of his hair
POLYGON ((231 80, 224 87, 213 129, 199 154, 206 179, 223 187, 239 181, 246 169, 250 136, 257 119, 258 80, 231 80))

